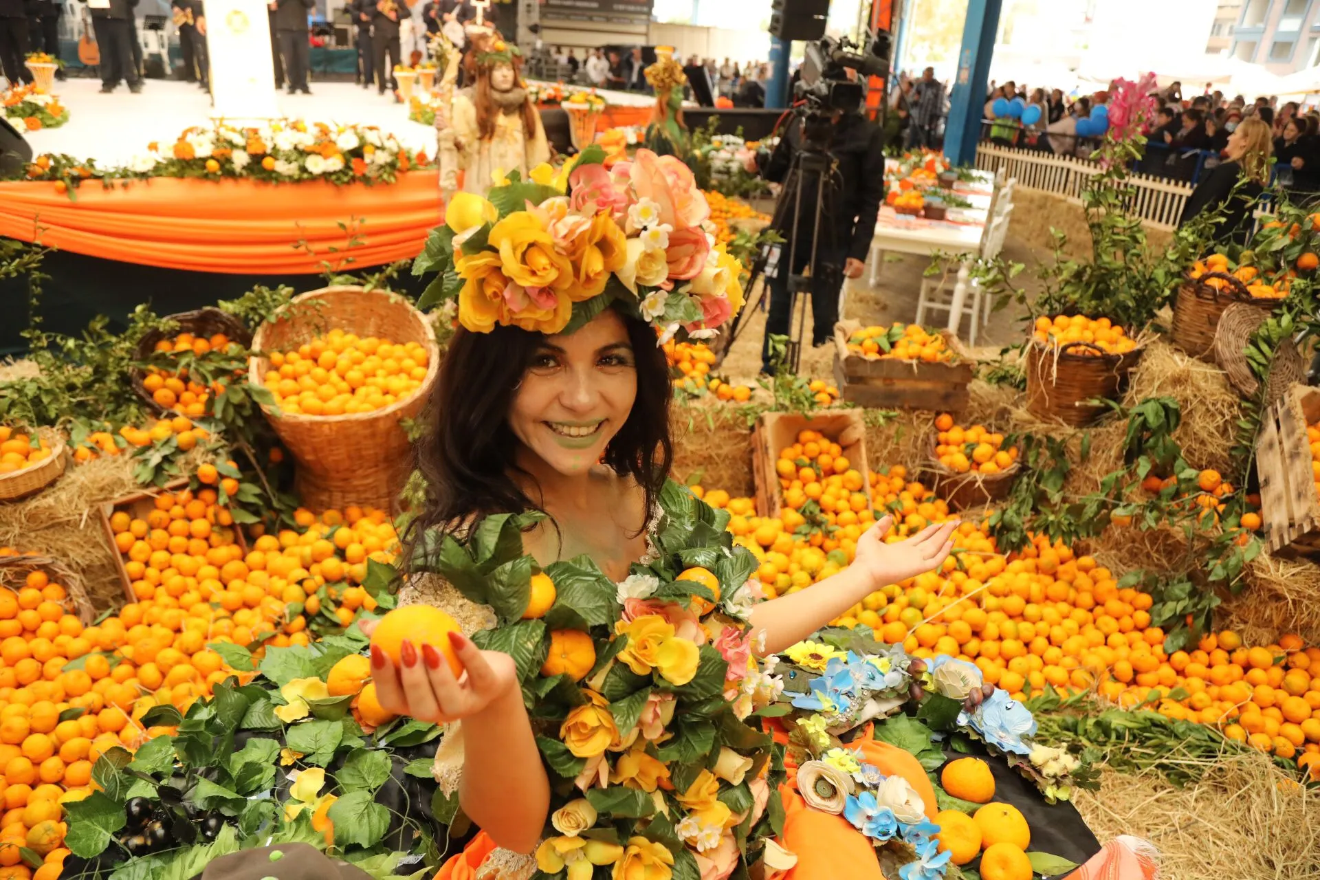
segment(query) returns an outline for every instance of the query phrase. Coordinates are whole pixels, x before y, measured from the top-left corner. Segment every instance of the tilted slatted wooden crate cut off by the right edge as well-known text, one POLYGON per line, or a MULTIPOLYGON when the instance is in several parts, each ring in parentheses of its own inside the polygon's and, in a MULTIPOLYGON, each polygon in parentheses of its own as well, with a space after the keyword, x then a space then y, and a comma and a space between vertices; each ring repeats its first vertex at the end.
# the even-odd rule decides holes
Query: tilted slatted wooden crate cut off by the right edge
POLYGON ((1307 425, 1320 421, 1320 389, 1294 385, 1261 420, 1255 470, 1265 538, 1274 555, 1320 555, 1320 493, 1307 425))

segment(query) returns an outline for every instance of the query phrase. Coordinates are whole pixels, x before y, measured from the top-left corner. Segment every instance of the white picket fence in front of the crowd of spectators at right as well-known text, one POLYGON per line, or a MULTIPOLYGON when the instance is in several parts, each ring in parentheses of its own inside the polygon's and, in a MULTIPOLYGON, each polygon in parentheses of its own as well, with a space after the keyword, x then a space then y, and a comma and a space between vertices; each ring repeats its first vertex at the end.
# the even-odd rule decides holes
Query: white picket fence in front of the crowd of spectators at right
MULTIPOLYGON (((977 146, 977 168, 983 172, 1002 168, 1005 178, 1018 178, 1018 186, 1061 195, 1074 204, 1081 204, 1086 179, 1100 173, 1100 166, 1089 160, 994 144, 977 146)), ((1183 206, 1192 194, 1189 183, 1150 174, 1131 174, 1129 182, 1137 190, 1133 210, 1146 223, 1158 230, 1177 228, 1183 206)))

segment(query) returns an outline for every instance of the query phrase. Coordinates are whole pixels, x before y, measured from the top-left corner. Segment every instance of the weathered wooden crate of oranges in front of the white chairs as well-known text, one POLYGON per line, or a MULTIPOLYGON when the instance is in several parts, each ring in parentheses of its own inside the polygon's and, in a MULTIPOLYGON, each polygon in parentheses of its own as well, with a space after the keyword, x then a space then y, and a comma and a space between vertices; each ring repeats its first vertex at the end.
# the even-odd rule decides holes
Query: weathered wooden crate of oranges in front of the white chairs
POLYGON ((960 413, 968 408, 973 368, 956 338, 945 334, 949 348, 962 359, 960 363, 871 360, 847 350, 849 336, 861 329, 858 321, 834 325, 834 384, 843 400, 873 409, 960 413))

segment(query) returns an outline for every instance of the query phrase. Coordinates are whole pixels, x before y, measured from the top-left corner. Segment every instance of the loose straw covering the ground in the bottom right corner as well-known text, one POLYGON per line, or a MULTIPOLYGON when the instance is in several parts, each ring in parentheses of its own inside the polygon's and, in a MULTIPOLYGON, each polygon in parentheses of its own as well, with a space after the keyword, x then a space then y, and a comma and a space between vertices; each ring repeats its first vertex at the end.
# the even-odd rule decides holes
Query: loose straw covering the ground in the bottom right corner
POLYGON ((1168 880, 1320 877, 1320 792, 1298 785, 1265 756, 1224 759, 1197 785, 1156 773, 1106 770, 1077 809, 1101 840, 1131 834, 1162 854, 1168 880))

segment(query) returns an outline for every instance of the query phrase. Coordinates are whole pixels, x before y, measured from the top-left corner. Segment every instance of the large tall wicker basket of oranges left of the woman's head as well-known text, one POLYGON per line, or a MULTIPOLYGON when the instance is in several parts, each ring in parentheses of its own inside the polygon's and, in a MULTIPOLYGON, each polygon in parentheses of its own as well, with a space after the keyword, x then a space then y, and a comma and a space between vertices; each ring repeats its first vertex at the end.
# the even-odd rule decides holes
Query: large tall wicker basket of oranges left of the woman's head
POLYGON ((426 350, 426 377, 408 397, 384 409, 345 416, 279 414, 265 409, 271 425, 297 459, 294 488, 305 505, 323 511, 348 504, 384 509, 396 507, 399 491, 412 471, 408 435, 400 424, 426 404, 440 371, 440 348, 426 318, 403 297, 383 290, 334 286, 293 298, 292 307, 312 301, 315 307, 286 313, 257 327, 248 364, 253 385, 271 368, 264 352, 288 351, 331 327, 359 336, 396 343, 416 342, 426 350))

